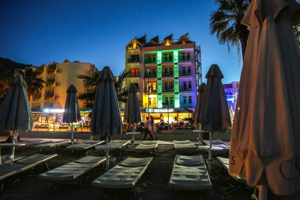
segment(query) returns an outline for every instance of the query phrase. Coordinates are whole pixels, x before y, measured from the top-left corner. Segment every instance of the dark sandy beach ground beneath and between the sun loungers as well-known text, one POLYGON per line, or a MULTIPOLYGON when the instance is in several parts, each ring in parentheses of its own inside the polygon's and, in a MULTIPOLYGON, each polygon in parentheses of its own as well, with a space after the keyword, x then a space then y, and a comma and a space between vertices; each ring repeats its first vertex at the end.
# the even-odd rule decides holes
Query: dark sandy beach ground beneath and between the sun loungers
MULTIPOLYGON (((137 143, 141 141, 136 141, 137 143)), ((196 141, 195 141, 196 143, 196 141)), ((10 149, 1 148, 1 155, 8 154, 10 149)), ((16 155, 30 155, 39 153, 34 148, 17 149, 16 155)), ((56 148, 58 157, 47 161, 50 169, 54 169, 73 160, 77 160, 85 156, 85 152, 74 152, 66 150, 64 147, 56 148)), ((53 154, 52 149, 43 150, 42 154, 53 154)), ((104 151, 92 149, 88 152, 93 156, 104 156, 104 151)), ((75 181, 67 182, 58 185, 55 189, 52 188, 52 182, 38 179, 38 175, 46 172, 44 167, 35 167, 26 170, 18 175, 5 180, 4 190, 0 193, 0 199, 205 199, 205 193, 210 200, 214 199, 251 199, 253 188, 246 188, 244 184, 237 184, 231 178, 227 171, 222 168, 222 165, 216 161, 211 169, 211 184, 213 189, 200 192, 175 192, 173 188, 168 187, 170 175, 173 168, 173 162, 176 151, 171 141, 162 141, 158 145, 155 154, 143 152, 137 154, 132 151, 131 145, 129 149, 123 147, 120 151, 110 151, 110 155, 116 157, 114 163, 110 163, 110 168, 121 162, 128 156, 131 157, 154 157, 149 165, 149 172, 144 175, 136 184, 136 196, 131 191, 104 191, 101 188, 91 185, 91 182, 104 173, 100 167, 96 167, 85 174, 81 175, 81 186, 79 187, 79 178, 75 181)), ((208 152, 197 149, 196 151, 185 151, 179 154, 182 155, 203 155, 204 159, 208 157, 208 152)), ((228 157, 228 153, 216 153, 213 157, 221 156, 228 157)), ((104 165, 105 166, 105 165, 104 165)), ((268 199, 282 200, 300 199, 300 193, 294 196, 275 196, 271 192, 268 193, 268 199)))

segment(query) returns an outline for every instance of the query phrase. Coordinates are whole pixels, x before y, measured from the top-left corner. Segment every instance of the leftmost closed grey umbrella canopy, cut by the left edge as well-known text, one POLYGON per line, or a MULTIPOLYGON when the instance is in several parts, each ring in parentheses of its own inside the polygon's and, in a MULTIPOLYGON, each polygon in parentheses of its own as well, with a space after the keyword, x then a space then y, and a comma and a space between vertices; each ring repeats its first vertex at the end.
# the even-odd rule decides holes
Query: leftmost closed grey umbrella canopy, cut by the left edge
POLYGON ((0 130, 33 131, 34 121, 22 76, 9 83, 10 89, 0 107, 0 130))

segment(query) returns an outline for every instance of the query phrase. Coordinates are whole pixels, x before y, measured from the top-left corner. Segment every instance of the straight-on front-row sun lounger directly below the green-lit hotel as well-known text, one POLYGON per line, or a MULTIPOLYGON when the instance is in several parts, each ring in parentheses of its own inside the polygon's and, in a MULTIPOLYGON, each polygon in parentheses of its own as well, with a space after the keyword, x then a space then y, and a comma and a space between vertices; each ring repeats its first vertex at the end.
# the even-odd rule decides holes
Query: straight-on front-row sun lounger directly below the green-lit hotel
POLYGON ((211 189, 203 157, 176 155, 169 186, 175 190, 211 189))

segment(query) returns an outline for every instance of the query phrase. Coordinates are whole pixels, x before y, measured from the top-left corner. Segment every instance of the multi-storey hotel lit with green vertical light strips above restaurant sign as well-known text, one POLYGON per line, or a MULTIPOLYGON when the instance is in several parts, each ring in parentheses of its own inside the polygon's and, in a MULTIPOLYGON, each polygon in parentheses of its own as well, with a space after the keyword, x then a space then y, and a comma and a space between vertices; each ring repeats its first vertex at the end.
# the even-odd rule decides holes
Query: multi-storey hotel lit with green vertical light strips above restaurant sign
POLYGON ((125 46, 125 55, 125 69, 131 71, 125 87, 137 86, 138 97, 143 101, 143 121, 148 112, 156 122, 168 121, 166 102, 170 122, 189 115, 182 107, 194 110, 196 91, 202 82, 201 52, 188 33, 179 39, 173 39, 173 34, 164 40, 158 36, 149 41, 146 35, 135 37, 125 46))

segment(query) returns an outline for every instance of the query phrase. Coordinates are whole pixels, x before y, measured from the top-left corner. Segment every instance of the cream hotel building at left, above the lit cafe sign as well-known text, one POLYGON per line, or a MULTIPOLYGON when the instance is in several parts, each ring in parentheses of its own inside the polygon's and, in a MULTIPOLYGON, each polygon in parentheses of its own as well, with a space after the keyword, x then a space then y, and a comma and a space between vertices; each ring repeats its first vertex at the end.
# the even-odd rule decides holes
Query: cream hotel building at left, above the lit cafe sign
MULTIPOLYGON (((84 81, 76 76, 89 75, 92 67, 94 65, 88 62, 70 62, 67 59, 62 63, 54 61, 48 65, 32 66, 32 70, 41 72, 39 78, 45 81, 44 88, 32 95, 30 99, 35 130, 53 131, 53 124, 55 124, 55 131, 64 131, 68 128, 62 123, 67 89, 70 85, 75 85, 78 93, 85 91, 84 81)), ((19 74, 18 72, 19 69, 16 69, 15 75, 19 74)), ((83 101, 79 100, 78 103, 81 115, 85 119, 88 112, 84 109, 83 101)))

